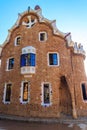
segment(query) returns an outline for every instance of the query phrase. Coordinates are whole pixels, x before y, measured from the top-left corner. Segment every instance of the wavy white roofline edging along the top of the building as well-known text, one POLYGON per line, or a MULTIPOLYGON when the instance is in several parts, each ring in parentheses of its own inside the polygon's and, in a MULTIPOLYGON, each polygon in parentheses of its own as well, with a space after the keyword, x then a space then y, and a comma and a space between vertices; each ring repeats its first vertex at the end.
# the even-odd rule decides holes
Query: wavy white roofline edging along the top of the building
POLYGON ((35 9, 35 10, 28 8, 27 11, 18 14, 18 19, 17 19, 16 23, 11 27, 10 30, 8 30, 8 36, 5 40, 5 42, 2 44, 2 48, 5 47, 5 45, 9 42, 12 31, 20 25, 21 18, 23 18, 23 16, 25 16, 29 13, 36 15, 39 19, 39 23, 48 24, 52 28, 54 35, 59 36, 60 38, 64 39, 66 41, 68 47, 73 47, 75 54, 79 53, 79 54, 85 55, 85 51, 83 50, 82 46, 80 45, 80 48, 76 47, 76 44, 72 41, 71 33, 61 32, 56 26, 56 20, 48 20, 47 18, 45 18, 42 15, 42 9, 41 8, 38 8, 38 9, 35 9), (80 50, 80 51, 78 51, 78 50, 80 50))

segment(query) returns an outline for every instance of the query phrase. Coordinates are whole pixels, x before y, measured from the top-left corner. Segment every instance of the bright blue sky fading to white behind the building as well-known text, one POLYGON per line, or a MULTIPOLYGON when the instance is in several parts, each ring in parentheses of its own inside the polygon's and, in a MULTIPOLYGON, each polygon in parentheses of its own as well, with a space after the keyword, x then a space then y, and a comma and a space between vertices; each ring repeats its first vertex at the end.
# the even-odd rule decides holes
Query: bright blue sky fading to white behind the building
MULTIPOLYGON (((45 18, 56 20, 60 31, 71 32, 72 40, 81 43, 87 52, 87 0, 0 0, 0 45, 15 24, 18 13, 26 11, 29 6, 34 9, 36 5, 41 7, 45 18)), ((86 66, 87 58, 87 74, 86 66)))

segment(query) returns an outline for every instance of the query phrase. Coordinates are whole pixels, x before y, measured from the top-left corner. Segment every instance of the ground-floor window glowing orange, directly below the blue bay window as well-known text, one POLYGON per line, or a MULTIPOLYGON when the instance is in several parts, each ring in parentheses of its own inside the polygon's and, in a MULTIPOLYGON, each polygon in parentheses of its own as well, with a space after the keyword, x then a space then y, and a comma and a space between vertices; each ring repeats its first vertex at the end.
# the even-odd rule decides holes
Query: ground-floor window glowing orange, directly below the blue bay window
POLYGON ((28 103, 29 101, 29 82, 22 82, 22 86, 21 86, 21 99, 20 102, 22 104, 24 103, 28 103))

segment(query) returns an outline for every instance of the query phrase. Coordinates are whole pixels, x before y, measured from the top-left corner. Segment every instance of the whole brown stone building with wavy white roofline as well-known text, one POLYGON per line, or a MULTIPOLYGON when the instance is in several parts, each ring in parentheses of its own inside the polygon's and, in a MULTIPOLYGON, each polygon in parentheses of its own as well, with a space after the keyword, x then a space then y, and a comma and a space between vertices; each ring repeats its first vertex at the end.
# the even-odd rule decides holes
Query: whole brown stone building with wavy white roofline
POLYGON ((18 14, 0 54, 1 114, 87 115, 83 46, 58 30, 39 6, 18 14))

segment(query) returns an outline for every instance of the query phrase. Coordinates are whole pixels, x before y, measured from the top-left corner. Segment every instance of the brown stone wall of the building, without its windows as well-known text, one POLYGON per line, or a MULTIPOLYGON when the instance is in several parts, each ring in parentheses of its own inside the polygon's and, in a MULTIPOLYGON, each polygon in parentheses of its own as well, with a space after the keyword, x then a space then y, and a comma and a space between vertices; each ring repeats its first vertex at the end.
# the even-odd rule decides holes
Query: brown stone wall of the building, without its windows
MULTIPOLYGON (((32 17, 37 18, 37 16, 32 17)), ((37 18, 38 19, 38 18, 37 18)), ((33 116, 33 117, 59 117, 60 113, 72 113, 72 96, 76 101, 76 109, 85 106, 81 98, 80 83, 86 81, 83 57, 74 55, 72 50, 67 48, 66 41, 58 35, 53 34, 50 24, 38 22, 31 28, 21 25, 26 20, 26 15, 20 20, 19 26, 12 30, 9 42, 4 45, 2 50, 2 65, 0 79, 0 112, 4 114, 33 116), (48 38, 45 42, 39 41, 39 32, 47 32, 48 38), (21 36, 21 45, 15 46, 14 39, 21 36), (22 48, 32 46, 36 49, 36 72, 35 74, 22 75, 20 68, 20 56, 22 48), (59 66, 48 66, 48 52, 58 52, 59 66), (6 71, 6 61, 9 57, 14 57, 14 69, 6 71), (68 80, 73 77, 72 85, 61 83, 61 76, 68 80), (21 104, 20 88, 22 81, 30 82, 30 101, 28 104, 21 104), (5 83, 12 83, 11 103, 4 104, 3 91, 5 83), (41 106, 41 84, 43 82, 51 83, 52 87, 52 105, 49 107, 41 106), (74 90, 75 87, 75 91, 74 90), (68 96, 67 96, 68 95, 68 96), (65 103, 65 105, 64 105, 65 103)))

